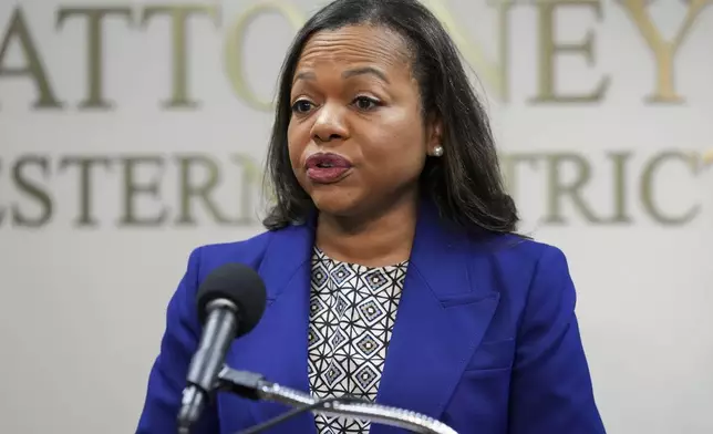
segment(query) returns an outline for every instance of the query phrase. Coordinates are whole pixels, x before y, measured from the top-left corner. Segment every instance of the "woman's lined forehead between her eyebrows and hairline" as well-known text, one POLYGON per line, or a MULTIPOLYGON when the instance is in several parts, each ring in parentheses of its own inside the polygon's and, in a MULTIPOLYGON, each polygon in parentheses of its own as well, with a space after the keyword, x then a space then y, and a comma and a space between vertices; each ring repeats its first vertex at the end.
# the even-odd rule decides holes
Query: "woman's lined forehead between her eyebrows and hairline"
POLYGON ((394 74, 410 72, 406 44, 383 27, 349 25, 316 33, 304 44, 297 69, 374 65, 394 74))

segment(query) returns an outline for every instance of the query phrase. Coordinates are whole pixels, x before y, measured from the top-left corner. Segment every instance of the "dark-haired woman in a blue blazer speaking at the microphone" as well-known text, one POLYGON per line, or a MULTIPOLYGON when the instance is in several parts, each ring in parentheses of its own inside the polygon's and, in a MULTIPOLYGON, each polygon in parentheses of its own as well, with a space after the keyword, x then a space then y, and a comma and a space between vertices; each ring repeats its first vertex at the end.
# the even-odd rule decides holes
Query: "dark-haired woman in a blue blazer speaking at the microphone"
MULTIPOLYGON (((176 432, 200 329, 195 292, 226 262, 268 291, 227 363, 319 396, 350 394, 459 433, 603 433, 565 256, 516 234, 485 111, 453 42, 415 0, 338 0, 281 75, 269 229, 195 250, 170 300, 138 433, 176 432)), ((196 433, 286 409, 219 395, 196 433)), ((392 433, 306 414, 275 433, 392 433)))

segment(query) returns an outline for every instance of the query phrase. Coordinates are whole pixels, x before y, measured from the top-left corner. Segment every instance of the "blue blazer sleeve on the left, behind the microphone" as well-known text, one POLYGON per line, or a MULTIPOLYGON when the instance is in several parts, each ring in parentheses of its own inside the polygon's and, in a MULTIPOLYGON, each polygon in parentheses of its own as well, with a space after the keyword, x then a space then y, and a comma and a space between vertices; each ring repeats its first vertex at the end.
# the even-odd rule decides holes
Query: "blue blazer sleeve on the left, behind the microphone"
MULTIPOLYGON (((174 292, 166 311, 166 328, 161 351, 148 375, 144 407, 136 434, 175 434, 183 390, 190 359, 198 347, 200 326, 196 312, 196 291, 200 249, 190 254, 187 270, 174 292)), ((205 407, 194 434, 218 433, 217 411, 205 407)))

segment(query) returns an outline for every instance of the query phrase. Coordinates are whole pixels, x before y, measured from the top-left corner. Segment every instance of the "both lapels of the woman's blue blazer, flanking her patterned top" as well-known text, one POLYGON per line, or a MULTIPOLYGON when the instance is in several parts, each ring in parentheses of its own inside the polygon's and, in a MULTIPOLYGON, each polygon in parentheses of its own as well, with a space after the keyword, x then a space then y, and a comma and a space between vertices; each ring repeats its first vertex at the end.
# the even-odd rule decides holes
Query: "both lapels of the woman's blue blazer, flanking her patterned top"
MULTIPOLYGON (((269 330, 271 340, 279 340, 266 342, 250 366, 269 380, 306 392, 313 242, 313 220, 272 234, 258 270, 270 308, 258 328, 269 330)), ((446 224, 433 204, 424 202, 378 402, 441 417, 498 303, 496 292, 476 285, 473 270, 478 260, 474 242, 446 224)), ((261 422, 281 411, 262 406, 257 418, 261 422)), ((313 417, 300 417, 289 427, 313 433, 313 417)), ((391 428, 374 425, 371 432, 385 434, 391 428)))

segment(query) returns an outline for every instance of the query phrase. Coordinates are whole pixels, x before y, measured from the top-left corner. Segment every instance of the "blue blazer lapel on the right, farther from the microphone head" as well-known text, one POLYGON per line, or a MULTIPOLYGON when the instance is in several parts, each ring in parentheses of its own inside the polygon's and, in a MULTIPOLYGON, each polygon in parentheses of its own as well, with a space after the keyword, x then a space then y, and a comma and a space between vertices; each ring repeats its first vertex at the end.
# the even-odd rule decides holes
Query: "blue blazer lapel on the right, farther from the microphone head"
MULTIPOLYGON (((498 293, 475 285, 472 241, 431 205, 418 216, 378 402, 440 418, 478 347, 498 293)), ((400 432, 373 425, 372 434, 400 432)))

